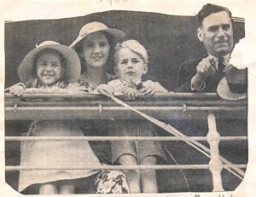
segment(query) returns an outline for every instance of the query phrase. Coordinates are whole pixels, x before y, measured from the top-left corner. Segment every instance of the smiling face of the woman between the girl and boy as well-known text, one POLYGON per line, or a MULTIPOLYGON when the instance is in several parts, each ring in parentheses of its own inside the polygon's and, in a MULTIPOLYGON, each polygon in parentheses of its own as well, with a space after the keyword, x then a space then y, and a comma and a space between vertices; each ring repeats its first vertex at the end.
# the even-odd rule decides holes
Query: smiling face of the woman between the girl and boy
POLYGON ((109 43, 104 33, 95 32, 84 38, 82 56, 87 67, 105 67, 108 55, 109 43))

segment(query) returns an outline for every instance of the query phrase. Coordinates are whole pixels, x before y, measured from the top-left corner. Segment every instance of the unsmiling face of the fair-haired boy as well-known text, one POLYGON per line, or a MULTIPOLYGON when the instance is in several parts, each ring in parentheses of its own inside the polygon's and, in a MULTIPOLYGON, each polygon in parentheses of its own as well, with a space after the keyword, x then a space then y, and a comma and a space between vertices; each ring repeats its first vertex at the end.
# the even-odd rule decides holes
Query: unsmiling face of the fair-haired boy
POLYGON ((115 72, 126 82, 141 80, 143 74, 148 72, 147 64, 143 59, 128 48, 119 49, 117 67, 115 72))

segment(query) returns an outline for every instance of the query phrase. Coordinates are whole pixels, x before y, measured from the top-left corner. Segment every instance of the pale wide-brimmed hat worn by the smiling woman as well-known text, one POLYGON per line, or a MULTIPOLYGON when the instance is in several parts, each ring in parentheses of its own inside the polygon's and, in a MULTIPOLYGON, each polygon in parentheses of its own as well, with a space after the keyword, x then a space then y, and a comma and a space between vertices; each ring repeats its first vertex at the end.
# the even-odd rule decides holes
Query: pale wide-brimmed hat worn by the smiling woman
POLYGON ((90 33, 94 33, 94 32, 106 32, 109 35, 113 36, 113 38, 124 38, 125 37, 125 32, 122 32, 120 30, 117 29, 112 29, 112 28, 108 28, 108 26, 104 25, 101 22, 90 22, 87 23, 85 26, 83 26, 79 32, 79 36, 78 38, 76 38, 72 44, 70 44, 70 48, 75 48, 75 46, 82 40, 84 39, 86 36, 90 35, 90 33))

